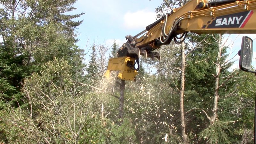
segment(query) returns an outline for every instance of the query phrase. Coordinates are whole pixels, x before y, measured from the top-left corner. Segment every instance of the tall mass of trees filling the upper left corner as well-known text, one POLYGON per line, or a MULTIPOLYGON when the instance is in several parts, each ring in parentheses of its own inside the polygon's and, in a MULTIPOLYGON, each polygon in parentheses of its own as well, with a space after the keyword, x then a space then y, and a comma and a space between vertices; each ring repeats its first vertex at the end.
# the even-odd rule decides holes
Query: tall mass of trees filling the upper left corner
POLYGON ((75 0, 0 2, 0 35, 3 37, 0 76, 5 84, 15 88, 15 92, 5 93, 4 98, 8 95, 12 100, 19 100, 24 78, 39 72, 41 64, 55 57, 68 60, 74 66, 73 74, 80 75, 81 79, 84 54, 75 45, 75 29, 82 21, 73 19, 84 13, 65 14, 76 9, 72 6, 74 3, 75 0))

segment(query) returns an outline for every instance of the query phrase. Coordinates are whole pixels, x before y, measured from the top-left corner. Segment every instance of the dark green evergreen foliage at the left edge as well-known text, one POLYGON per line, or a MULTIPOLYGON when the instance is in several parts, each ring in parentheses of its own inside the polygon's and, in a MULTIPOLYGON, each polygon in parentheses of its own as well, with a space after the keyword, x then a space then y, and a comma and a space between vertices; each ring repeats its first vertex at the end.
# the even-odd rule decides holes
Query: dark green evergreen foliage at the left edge
MULTIPOLYGON (((15 101, 22 97, 20 90, 23 79, 30 75, 30 70, 24 63, 25 55, 15 48, 0 46, 0 96, 18 106, 15 101)), ((1 107, 1 106, 0 106, 1 107)))

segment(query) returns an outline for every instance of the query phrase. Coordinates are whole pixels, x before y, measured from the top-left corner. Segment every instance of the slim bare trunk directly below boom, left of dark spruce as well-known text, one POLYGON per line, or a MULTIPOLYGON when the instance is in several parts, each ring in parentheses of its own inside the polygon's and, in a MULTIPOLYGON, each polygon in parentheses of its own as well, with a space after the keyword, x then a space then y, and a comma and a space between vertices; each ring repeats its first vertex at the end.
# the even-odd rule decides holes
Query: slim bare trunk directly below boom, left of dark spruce
POLYGON ((184 86, 185 86, 185 45, 181 44, 181 82, 180 82, 180 121, 181 121, 181 135, 183 142, 187 143, 186 126, 184 118, 184 86))

